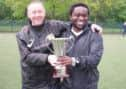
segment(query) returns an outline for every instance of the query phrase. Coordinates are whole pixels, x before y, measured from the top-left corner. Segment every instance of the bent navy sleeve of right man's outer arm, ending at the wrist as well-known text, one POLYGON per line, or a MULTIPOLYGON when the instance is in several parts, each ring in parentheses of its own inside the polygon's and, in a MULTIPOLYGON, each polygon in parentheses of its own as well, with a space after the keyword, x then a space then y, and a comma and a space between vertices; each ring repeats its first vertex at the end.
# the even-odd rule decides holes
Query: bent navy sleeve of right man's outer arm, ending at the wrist
POLYGON ((103 39, 101 35, 93 33, 90 42, 90 51, 88 56, 76 57, 78 66, 80 68, 96 68, 101 60, 103 54, 103 39))

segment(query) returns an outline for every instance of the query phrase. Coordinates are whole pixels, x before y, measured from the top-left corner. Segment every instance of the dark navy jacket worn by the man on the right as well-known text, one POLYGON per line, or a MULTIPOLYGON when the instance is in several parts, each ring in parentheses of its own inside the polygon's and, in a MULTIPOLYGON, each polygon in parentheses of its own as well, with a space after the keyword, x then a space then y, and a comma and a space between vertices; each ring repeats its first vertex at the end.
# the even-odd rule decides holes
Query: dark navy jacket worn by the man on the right
POLYGON ((103 54, 103 39, 98 33, 92 32, 88 25, 83 30, 83 33, 76 37, 71 32, 71 25, 68 25, 65 34, 66 37, 71 36, 67 44, 67 55, 79 61, 69 70, 71 89, 97 89, 97 67, 103 54))

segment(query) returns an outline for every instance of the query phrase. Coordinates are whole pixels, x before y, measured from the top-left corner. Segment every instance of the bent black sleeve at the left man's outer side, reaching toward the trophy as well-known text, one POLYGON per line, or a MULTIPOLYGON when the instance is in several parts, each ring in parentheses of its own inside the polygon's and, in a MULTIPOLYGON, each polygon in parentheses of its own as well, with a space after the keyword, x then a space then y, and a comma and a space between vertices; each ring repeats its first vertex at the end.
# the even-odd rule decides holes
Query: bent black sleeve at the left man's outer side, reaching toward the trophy
POLYGON ((48 54, 31 52, 28 49, 25 40, 21 39, 21 36, 22 35, 20 35, 19 33, 16 34, 21 62, 25 62, 28 65, 33 65, 33 66, 40 66, 47 63, 48 54))

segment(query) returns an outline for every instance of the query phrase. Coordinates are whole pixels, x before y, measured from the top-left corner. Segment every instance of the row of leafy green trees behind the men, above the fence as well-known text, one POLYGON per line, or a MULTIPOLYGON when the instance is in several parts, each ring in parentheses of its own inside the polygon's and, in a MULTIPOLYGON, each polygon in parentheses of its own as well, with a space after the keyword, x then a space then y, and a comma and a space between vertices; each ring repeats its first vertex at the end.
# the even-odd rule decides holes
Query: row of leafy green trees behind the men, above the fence
MULTIPOLYGON (((25 9, 31 0, 0 0, 0 19, 25 19, 25 9)), ((68 20, 72 4, 83 2, 90 8, 95 22, 123 22, 126 20, 126 0, 42 0, 48 19, 68 20)))

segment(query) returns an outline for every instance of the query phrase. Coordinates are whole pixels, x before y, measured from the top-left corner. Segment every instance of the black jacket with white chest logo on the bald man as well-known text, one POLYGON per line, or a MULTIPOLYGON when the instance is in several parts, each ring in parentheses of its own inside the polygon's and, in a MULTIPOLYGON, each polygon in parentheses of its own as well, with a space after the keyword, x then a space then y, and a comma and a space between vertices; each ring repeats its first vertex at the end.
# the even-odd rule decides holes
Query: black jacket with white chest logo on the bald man
POLYGON ((48 89, 53 84, 53 68, 47 62, 52 54, 51 43, 46 40, 48 34, 60 36, 63 24, 46 21, 43 26, 26 25, 16 34, 21 57, 22 89, 48 89))

